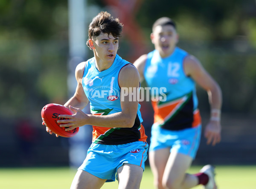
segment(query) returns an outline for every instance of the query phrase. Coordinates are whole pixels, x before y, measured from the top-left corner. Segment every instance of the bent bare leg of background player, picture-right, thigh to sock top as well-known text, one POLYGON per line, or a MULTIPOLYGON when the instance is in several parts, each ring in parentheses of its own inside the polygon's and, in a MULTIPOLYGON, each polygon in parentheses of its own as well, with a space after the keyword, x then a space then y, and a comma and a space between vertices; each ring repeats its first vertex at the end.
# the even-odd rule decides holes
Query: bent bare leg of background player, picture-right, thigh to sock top
POLYGON ((198 177, 192 174, 186 174, 191 163, 191 157, 185 154, 172 152, 163 174, 163 185, 165 188, 190 189, 198 185, 198 177))

